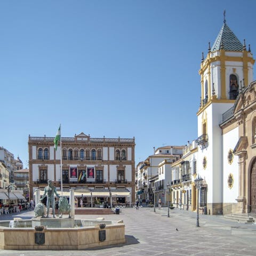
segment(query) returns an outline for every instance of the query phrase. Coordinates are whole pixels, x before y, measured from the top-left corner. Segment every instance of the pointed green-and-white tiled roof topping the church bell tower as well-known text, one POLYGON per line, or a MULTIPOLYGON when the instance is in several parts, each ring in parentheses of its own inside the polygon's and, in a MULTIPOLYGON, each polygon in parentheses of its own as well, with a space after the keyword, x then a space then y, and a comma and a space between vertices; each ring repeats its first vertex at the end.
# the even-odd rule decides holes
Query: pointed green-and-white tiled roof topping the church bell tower
POLYGON ((243 51, 243 45, 237 39, 233 31, 228 27, 226 22, 224 22, 211 51, 218 51, 220 49, 226 51, 243 51))

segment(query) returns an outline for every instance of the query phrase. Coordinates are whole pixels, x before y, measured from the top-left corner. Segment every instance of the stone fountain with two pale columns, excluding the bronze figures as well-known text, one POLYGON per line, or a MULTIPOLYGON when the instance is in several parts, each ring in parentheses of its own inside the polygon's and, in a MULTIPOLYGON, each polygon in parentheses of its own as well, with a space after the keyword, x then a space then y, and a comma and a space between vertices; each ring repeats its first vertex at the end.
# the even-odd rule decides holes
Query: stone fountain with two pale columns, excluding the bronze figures
MULTIPOLYGON (((125 243, 124 223, 75 219, 74 189, 70 189, 70 218, 50 218, 49 211, 30 220, 0 221, 0 249, 84 250, 125 243)), ((36 203, 40 203, 36 191, 36 203)))

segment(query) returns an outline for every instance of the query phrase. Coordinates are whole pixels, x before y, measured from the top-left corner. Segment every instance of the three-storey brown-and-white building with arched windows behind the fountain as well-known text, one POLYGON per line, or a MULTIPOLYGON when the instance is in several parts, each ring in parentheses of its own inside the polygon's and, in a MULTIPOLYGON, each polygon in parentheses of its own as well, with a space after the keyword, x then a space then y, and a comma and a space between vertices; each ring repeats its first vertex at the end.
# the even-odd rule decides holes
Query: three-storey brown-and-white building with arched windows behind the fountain
POLYGON ((53 140, 28 138, 30 195, 44 188, 48 179, 60 191, 62 179, 63 190, 74 188, 84 196, 94 193, 101 201, 109 200, 111 192, 116 203, 135 201, 134 138, 91 138, 81 133, 61 138, 57 151, 53 140))

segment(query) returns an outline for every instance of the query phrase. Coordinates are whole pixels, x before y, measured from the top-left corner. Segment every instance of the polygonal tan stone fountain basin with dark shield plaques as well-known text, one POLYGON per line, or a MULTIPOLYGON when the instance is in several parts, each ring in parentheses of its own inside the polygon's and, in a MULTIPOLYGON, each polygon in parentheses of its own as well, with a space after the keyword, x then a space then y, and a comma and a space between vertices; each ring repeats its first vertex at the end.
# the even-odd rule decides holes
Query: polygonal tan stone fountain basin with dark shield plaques
POLYGON ((32 227, 32 220, 18 220, 15 228, 9 228, 9 223, 0 221, 0 249, 83 250, 125 243, 125 225, 122 221, 75 220, 75 227, 45 226, 42 231, 32 227), (83 222, 94 226, 82 226, 83 222), (105 223, 106 227, 101 229, 100 223, 105 223))

